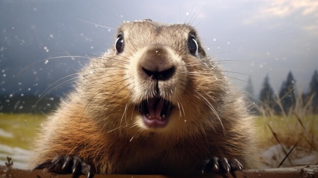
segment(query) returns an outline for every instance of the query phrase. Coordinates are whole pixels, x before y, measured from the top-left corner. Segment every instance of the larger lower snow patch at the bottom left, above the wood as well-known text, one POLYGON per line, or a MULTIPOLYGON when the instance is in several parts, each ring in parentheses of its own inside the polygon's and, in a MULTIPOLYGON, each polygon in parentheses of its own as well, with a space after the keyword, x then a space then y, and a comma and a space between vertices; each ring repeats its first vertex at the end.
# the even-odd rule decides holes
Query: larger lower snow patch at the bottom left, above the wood
POLYGON ((27 168, 27 163, 30 160, 31 152, 18 147, 9 147, 0 144, 0 165, 6 165, 7 156, 12 158, 14 168, 27 168))

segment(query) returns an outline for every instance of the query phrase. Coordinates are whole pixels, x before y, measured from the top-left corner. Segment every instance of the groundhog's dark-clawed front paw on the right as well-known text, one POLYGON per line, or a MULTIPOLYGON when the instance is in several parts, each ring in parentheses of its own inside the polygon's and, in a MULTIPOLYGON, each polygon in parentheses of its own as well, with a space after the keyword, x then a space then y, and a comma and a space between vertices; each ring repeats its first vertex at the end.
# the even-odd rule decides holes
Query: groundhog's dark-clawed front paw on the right
POLYGON ((204 174, 206 171, 211 170, 214 172, 242 171, 243 166, 237 159, 228 160, 227 158, 212 157, 204 161, 199 173, 204 174))

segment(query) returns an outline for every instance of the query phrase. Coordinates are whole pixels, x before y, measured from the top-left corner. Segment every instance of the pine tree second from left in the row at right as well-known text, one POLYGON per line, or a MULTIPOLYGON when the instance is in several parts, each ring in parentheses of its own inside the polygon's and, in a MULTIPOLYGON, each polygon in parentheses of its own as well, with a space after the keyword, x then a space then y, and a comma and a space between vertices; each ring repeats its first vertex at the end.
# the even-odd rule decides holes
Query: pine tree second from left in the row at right
POLYGON ((269 77, 268 75, 266 75, 264 79, 264 83, 263 83, 263 89, 261 90, 261 93, 260 93, 260 101, 262 101, 264 104, 272 108, 274 104, 273 94, 274 94, 274 91, 269 84, 269 77))

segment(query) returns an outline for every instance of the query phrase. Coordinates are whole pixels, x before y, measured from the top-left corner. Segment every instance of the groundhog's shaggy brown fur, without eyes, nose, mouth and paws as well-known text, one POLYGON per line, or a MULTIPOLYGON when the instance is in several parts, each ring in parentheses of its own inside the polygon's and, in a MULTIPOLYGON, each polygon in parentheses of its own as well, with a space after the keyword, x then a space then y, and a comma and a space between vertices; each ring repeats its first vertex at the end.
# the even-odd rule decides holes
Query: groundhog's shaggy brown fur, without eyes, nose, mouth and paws
POLYGON ((77 154, 96 173, 194 173, 212 156, 254 167, 255 134, 245 103, 191 26, 145 20, 125 22, 118 32, 124 35, 123 52, 112 49, 84 67, 76 91, 44 123, 33 165, 77 154), (199 44, 197 57, 187 49, 189 32, 199 44), (164 128, 143 126, 138 113, 154 87, 136 71, 151 45, 167 48, 177 65, 177 75, 158 84, 160 95, 175 106, 164 128))

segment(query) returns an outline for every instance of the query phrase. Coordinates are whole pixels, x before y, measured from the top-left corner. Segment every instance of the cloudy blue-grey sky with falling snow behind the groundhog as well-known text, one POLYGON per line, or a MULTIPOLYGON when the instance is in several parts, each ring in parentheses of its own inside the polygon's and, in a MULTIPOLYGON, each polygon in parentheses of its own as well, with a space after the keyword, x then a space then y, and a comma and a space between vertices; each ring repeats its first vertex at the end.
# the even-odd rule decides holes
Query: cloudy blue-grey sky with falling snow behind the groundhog
POLYGON ((318 68, 318 1, 1 0, 0 92, 41 92, 80 67, 77 59, 44 60, 13 77, 30 63, 111 48, 115 30, 93 24, 146 18, 195 26, 216 61, 235 60, 222 62, 224 70, 246 74, 226 75, 253 76, 257 97, 266 74, 277 91, 291 70, 298 90, 307 90, 318 68))

